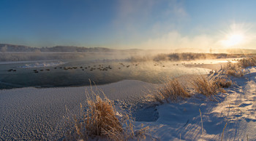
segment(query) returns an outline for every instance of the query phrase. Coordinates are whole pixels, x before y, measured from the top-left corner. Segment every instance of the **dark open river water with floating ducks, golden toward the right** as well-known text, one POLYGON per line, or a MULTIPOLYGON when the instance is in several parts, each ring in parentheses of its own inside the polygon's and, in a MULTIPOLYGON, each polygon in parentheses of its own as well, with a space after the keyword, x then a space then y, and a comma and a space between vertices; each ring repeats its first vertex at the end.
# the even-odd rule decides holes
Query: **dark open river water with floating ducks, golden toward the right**
POLYGON ((109 84, 125 79, 161 83, 166 78, 208 73, 205 68, 188 68, 180 63, 127 61, 34 61, 0 64, 0 89, 109 84), (64 69, 66 68, 66 70, 64 69), (12 70, 11 70, 12 69, 12 70), (15 70, 15 71, 14 71, 15 70))

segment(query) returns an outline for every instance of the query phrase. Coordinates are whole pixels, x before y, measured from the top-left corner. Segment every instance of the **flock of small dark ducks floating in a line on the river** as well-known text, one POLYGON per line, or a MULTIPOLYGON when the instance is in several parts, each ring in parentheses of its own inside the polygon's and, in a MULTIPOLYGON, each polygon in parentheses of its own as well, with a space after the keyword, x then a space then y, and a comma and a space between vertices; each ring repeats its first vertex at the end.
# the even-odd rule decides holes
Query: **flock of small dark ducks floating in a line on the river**
MULTIPOLYGON (((192 64, 194 64, 194 63, 192 63, 192 64)), ((195 64, 197 64, 197 63, 195 63, 195 64)), ((198 63, 198 64, 200 64, 200 63, 198 63)), ((121 69, 121 67, 129 68, 131 66, 131 65, 124 65, 124 63, 119 63, 119 65, 121 65, 121 66, 118 66, 118 69, 121 69)), ((132 65, 138 66, 138 65, 140 65, 140 63, 133 63, 132 65)), ((173 64, 173 65, 178 65, 178 64, 173 64)), ((185 63, 181 63, 181 65, 185 65, 185 63)), ((154 63, 154 66, 165 67, 165 65, 163 65, 162 62, 154 63)), ((75 69, 78 69, 78 68, 80 68, 82 71, 85 71, 85 70, 94 71, 96 69, 99 70, 99 71, 108 71, 108 70, 112 69, 112 66, 111 65, 107 65, 107 66, 105 66, 105 65, 88 65, 88 66, 85 66, 85 67, 83 67, 83 66, 80 66, 80 67, 76 67, 76 66, 75 67, 58 67, 58 68, 55 67, 54 69, 55 70, 56 69, 64 69, 65 71, 67 71, 67 70, 73 70, 73 69, 75 70, 75 69)), ((13 69, 13 68, 8 70, 8 72, 12 72, 12 71, 15 72, 17 70, 13 69)), ((34 69, 33 70, 34 73, 39 73, 39 71, 50 71, 50 69, 46 68, 46 69, 39 69, 39 70, 34 69)))

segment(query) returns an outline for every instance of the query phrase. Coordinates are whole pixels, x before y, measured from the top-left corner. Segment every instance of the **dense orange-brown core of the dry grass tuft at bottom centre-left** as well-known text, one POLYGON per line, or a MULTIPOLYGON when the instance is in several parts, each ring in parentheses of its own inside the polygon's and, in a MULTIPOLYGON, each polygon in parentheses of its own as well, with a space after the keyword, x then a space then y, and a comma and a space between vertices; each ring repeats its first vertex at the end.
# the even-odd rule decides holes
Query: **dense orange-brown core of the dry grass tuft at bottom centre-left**
POLYGON ((89 100, 89 109, 86 112, 84 121, 86 131, 91 136, 107 135, 113 137, 123 132, 122 126, 116 117, 116 109, 110 100, 102 100, 99 96, 96 101, 89 100))

